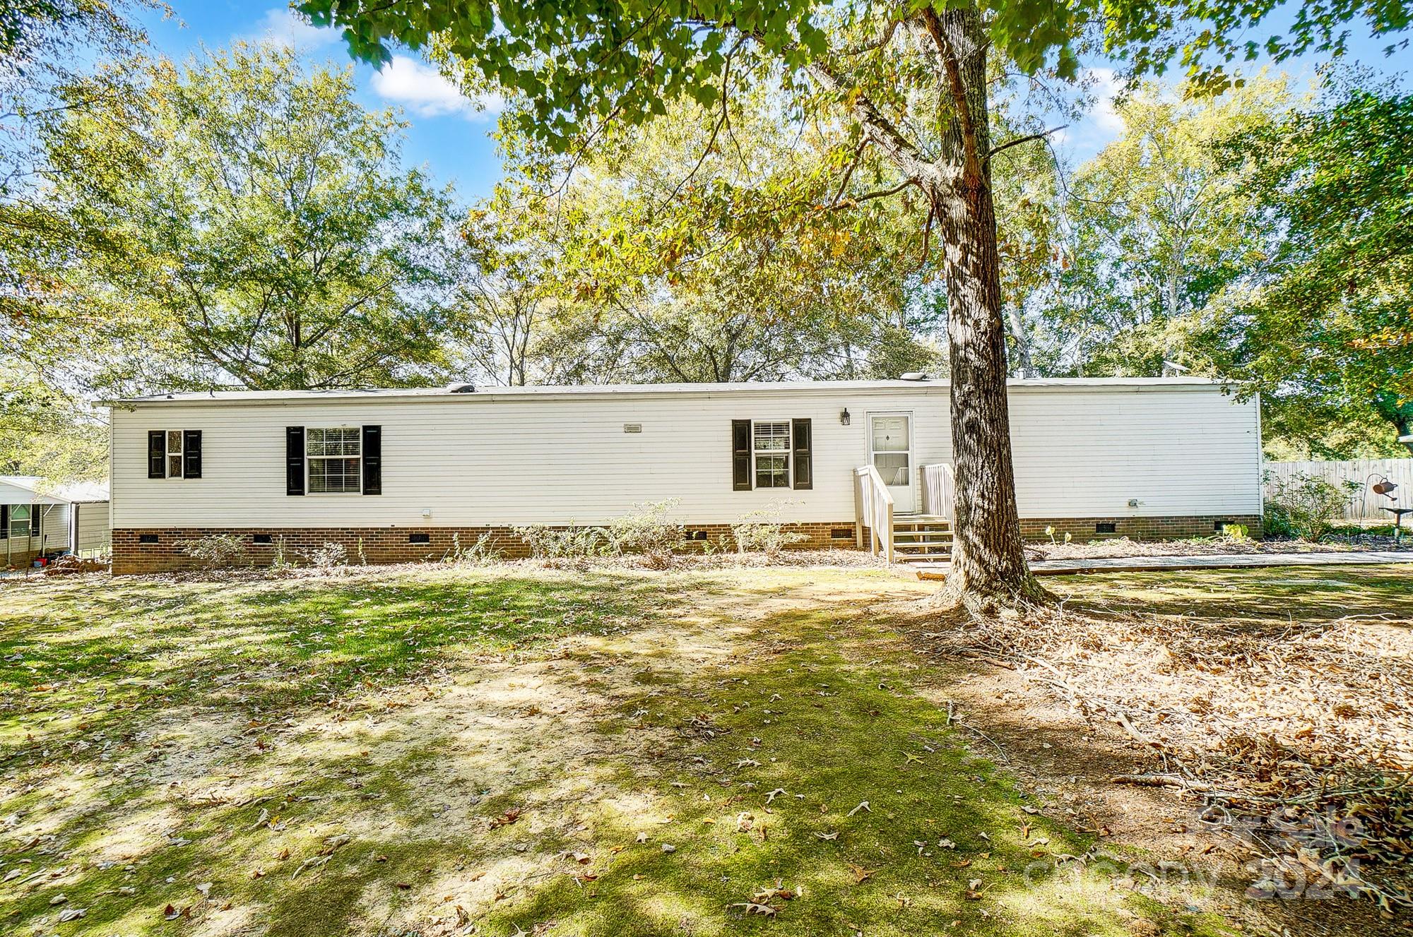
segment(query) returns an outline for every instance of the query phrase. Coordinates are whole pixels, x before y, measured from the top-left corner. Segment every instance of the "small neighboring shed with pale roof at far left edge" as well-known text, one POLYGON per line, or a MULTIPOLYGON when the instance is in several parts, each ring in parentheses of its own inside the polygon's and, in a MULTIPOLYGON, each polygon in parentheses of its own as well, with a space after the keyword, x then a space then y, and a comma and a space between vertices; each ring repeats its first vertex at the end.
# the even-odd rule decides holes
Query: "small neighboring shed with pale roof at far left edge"
POLYGON ((52 553, 106 550, 109 539, 107 485, 0 476, 0 557, 6 566, 25 566, 52 553))

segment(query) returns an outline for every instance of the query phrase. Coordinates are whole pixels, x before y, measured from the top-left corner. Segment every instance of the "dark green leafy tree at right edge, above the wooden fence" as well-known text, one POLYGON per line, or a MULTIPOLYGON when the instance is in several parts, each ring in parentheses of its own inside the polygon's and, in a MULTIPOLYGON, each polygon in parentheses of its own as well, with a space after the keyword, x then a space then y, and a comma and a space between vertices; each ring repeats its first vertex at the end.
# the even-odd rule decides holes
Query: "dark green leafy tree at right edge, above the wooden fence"
POLYGON ((1342 454, 1321 428, 1372 415, 1388 452, 1413 435, 1413 95, 1330 90, 1235 148, 1283 234, 1242 303, 1238 367, 1275 432, 1342 454))

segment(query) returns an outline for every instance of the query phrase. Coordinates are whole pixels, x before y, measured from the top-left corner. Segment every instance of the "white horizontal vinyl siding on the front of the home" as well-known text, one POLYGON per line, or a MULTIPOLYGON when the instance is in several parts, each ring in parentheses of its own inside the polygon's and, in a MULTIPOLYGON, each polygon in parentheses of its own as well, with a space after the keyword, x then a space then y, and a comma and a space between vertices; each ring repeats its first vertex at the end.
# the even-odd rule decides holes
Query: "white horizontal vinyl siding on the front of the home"
MULTIPOLYGON (((667 498, 688 524, 773 502, 786 521, 848 522, 852 470, 869 460, 862 415, 911 412, 916 468, 951 459, 947 408, 945 384, 136 404, 113 411, 113 526, 598 524, 667 498), (757 413, 812 421, 812 490, 732 490, 731 423, 757 413), (285 495, 287 426, 363 423, 383 426, 382 497, 285 495), (147 478, 153 425, 203 428, 208 484, 147 478)), ((1260 511, 1253 401, 1204 385, 1033 385, 1013 388, 1010 412, 1023 516, 1260 511)))

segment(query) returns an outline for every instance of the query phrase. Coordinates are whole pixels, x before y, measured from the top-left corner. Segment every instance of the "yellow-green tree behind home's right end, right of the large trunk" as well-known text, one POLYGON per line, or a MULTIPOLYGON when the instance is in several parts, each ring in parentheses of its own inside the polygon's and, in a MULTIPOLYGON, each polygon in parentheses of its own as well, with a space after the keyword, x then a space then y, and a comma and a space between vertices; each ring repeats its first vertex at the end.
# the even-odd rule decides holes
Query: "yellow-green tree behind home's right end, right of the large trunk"
POLYGON ((1056 206, 1053 289, 1029 312, 1044 325, 1048 374, 1152 377, 1171 361, 1217 377, 1232 323, 1225 294, 1272 250, 1253 172, 1224 147, 1283 120, 1284 78, 1201 97, 1143 83, 1121 100, 1119 137, 1070 174, 1056 206))

